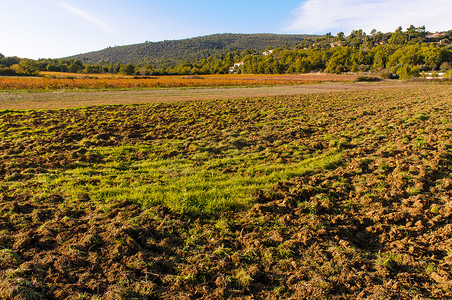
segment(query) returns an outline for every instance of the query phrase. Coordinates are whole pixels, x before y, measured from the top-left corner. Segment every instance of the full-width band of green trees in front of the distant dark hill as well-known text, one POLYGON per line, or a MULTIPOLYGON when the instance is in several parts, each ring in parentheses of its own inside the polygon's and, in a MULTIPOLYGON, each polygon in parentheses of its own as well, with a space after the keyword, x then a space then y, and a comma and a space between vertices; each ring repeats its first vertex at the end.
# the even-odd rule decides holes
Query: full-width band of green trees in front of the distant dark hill
MULTIPOLYGON (((37 75, 40 71, 111 73, 122 75, 292 74, 309 72, 373 72, 394 78, 410 78, 422 72, 452 68, 452 30, 431 34, 425 26, 366 34, 354 30, 287 43, 263 53, 254 49, 224 51, 178 65, 120 64, 80 59, 20 59, 0 54, 0 75, 37 75), (265 55, 264 55, 265 54, 265 55), (239 67, 233 68, 234 63, 239 67)), ((268 49, 267 49, 268 50, 268 49)))

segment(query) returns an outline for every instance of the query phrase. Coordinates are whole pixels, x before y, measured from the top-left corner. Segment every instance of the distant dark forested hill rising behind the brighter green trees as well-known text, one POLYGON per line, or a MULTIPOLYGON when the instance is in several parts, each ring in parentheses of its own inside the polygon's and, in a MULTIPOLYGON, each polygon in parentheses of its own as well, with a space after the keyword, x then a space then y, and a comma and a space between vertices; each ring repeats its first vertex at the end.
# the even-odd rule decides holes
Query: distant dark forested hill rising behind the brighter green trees
POLYGON ((74 55, 68 59, 80 59, 83 63, 131 63, 153 64, 156 67, 171 66, 185 61, 195 61, 214 54, 254 49, 279 48, 286 43, 292 46, 313 35, 282 34, 214 34, 183 40, 146 42, 142 44, 109 47, 104 50, 74 55))

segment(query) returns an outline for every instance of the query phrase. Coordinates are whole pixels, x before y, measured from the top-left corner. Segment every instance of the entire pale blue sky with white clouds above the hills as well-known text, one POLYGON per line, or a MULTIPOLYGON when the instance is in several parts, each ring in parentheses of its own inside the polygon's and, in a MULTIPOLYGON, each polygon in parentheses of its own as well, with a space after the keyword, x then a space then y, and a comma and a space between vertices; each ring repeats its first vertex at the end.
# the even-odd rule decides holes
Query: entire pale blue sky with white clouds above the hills
POLYGON ((0 53, 61 58, 215 33, 452 29, 451 0, 0 0, 0 53))

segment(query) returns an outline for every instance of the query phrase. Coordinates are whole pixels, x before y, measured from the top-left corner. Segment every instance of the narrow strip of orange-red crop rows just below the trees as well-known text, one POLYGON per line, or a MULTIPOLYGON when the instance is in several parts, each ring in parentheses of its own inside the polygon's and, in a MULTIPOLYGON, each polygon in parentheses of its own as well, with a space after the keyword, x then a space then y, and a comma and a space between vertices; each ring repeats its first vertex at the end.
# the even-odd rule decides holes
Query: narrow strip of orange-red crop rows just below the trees
POLYGON ((220 87, 294 85, 321 82, 347 82, 356 75, 194 75, 118 77, 117 75, 81 75, 44 72, 46 77, 1 77, 0 90, 55 89, 143 89, 169 87, 220 87))

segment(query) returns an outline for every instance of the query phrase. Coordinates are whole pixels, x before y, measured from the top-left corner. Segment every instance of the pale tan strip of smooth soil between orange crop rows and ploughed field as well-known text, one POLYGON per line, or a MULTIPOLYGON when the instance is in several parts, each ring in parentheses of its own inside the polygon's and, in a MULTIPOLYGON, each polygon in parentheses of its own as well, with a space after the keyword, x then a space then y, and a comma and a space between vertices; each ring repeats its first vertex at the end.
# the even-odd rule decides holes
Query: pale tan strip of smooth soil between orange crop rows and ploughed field
MULTIPOLYGON (((243 97, 331 93, 422 86, 419 83, 322 83, 296 86, 162 88, 127 91, 0 92, 0 109, 60 109, 93 105, 144 104, 156 102, 232 99, 243 97)), ((425 86, 428 86, 424 84, 425 86)))

